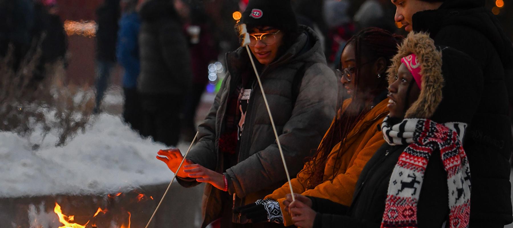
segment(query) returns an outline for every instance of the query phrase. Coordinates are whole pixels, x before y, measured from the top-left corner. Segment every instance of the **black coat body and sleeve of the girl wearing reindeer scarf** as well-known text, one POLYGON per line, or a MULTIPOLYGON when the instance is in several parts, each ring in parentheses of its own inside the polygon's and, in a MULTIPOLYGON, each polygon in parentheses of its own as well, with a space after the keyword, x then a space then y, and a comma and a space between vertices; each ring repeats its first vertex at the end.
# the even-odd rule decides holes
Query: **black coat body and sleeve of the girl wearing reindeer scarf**
MULTIPOLYGON (((376 151, 358 178, 350 207, 327 199, 309 197, 313 202, 313 210, 317 212, 313 227, 380 227, 388 182, 399 156, 407 146, 390 146, 385 143, 376 151)), ((422 187, 418 189, 421 192, 417 218, 421 228, 442 227, 445 215, 449 214, 447 173, 439 155, 439 150, 433 151, 422 187)))

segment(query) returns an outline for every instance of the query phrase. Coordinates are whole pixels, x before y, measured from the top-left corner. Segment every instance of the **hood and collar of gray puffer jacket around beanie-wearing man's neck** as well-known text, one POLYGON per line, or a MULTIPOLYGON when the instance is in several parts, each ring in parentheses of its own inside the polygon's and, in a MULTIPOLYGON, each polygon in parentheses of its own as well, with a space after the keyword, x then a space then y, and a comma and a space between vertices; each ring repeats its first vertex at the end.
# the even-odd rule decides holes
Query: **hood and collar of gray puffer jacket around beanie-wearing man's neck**
MULTIPOLYGON (((300 25, 299 28, 302 32, 295 42, 277 60, 269 64, 268 68, 277 68, 295 62, 326 63, 319 36, 309 27, 300 25)), ((245 47, 239 47, 235 51, 228 52, 226 60, 231 74, 239 74, 249 64, 249 56, 245 47)), ((260 64, 254 55, 253 60, 255 60, 256 65, 260 64)))

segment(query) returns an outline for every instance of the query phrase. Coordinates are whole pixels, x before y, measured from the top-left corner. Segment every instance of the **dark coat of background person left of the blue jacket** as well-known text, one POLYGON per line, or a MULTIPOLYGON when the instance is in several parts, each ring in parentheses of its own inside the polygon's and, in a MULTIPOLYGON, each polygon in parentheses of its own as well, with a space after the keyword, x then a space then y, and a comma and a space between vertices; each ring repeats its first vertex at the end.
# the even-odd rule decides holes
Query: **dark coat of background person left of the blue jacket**
POLYGON ((100 61, 116 61, 117 21, 121 15, 120 0, 106 0, 96 10, 96 58, 100 61))

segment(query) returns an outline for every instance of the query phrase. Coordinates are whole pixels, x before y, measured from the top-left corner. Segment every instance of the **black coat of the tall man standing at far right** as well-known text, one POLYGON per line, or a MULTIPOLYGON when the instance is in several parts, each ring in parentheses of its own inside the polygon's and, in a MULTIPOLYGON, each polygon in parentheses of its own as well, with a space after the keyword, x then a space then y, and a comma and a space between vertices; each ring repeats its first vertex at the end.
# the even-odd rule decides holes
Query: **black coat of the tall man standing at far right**
POLYGON ((435 44, 456 48, 480 64, 483 96, 463 144, 472 170, 470 227, 502 227, 513 221, 508 163, 513 48, 483 6, 482 0, 445 1, 437 10, 413 14, 412 25, 414 31, 429 32, 435 44))

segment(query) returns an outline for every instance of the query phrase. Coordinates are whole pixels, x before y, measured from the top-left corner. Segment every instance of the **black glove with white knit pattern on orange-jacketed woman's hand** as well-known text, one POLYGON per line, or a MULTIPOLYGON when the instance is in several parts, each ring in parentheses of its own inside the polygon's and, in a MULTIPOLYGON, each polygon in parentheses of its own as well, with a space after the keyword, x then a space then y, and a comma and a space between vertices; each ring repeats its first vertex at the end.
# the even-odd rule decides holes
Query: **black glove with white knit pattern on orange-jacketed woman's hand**
POLYGON ((271 199, 257 200, 257 202, 235 208, 234 212, 241 213, 253 223, 263 221, 283 223, 280 203, 271 199))

